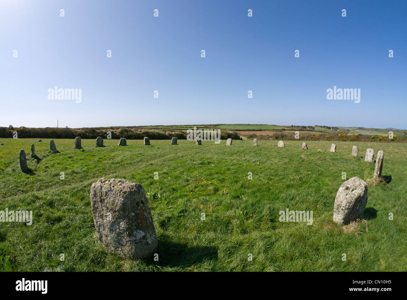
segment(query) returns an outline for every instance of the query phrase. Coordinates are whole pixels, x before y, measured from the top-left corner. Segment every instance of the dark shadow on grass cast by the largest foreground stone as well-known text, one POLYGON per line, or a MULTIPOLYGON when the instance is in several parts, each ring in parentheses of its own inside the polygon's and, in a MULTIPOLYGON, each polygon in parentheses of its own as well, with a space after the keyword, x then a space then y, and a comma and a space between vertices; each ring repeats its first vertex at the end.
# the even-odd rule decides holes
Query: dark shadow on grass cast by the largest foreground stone
POLYGON ((162 266, 188 266, 204 261, 218 259, 218 249, 214 246, 188 246, 182 243, 175 243, 168 237, 158 240, 157 253, 158 261, 151 261, 153 265, 162 266))

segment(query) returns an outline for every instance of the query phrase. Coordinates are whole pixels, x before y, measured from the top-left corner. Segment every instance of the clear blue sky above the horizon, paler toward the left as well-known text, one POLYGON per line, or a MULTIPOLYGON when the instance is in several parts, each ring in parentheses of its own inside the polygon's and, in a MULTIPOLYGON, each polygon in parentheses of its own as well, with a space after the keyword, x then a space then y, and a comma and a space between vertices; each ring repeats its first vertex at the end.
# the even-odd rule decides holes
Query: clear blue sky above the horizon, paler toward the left
POLYGON ((406 14, 407 1, 2 0, 0 126, 407 129, 406 14), (55 85, 81 103, 48 100, 55 85), (334 85, 361 102, 327 100, 334 85))

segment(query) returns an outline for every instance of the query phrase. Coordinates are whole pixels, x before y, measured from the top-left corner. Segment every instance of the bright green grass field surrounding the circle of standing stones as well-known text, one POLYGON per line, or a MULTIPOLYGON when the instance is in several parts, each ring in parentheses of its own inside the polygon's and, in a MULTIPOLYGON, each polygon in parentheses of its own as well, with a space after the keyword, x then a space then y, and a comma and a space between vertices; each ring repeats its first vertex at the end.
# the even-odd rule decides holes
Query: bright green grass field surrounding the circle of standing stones
POLYGON ((405 271, 406 144, 235 140, 203 141, 0 139, 0 210, 32 210, 33 224, 0 223, 0 271, 405 271), (37 159, 30 158, 31 143, 37 159), (359 157, 352 158, 352 145, 359 157), (338 226, 335 195, 346 179, 373 177, 367 148, 384 151, 383 175, 369 184, 364 219, 338 226), (380 147, 380 148, 379 148, 380 147), (19 151, 30 174, 22 173, 19 151), (321 149, 321 151, 317 151, 321 149), (65 179, 60 179, 64 172, 65 179), (154 180, 154 172, 159 179, 154 180), (248 172, 253 179, 248 180, 248 172), (159 261, 105 251, 94 228, 90 186, 101 177, 144 186, 157 231, 159 261), (280 210, 312 210, 313 224, 279 222, 280 210), (206 220, 201 220, 201 213, 206 220), (389 220, 389 213, 394 220, 389 220), (248 254, 253 260, 248 261, 248 254), (346 261, 342 261, 342 254, 346 261), (60 261, 64 254, 64 261, 60 261))

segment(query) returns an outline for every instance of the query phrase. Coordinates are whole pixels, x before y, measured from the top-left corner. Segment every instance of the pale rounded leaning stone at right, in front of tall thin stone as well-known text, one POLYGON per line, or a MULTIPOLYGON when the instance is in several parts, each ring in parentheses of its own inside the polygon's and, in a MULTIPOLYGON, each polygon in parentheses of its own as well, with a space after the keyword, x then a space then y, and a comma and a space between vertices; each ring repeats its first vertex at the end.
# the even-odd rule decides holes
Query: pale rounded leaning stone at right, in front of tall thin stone
POLYGON ((333 221, 346 225, 360 219, 368 202, 368 185, 359 177, 352 177, 339 188, 333 209, 333 221))

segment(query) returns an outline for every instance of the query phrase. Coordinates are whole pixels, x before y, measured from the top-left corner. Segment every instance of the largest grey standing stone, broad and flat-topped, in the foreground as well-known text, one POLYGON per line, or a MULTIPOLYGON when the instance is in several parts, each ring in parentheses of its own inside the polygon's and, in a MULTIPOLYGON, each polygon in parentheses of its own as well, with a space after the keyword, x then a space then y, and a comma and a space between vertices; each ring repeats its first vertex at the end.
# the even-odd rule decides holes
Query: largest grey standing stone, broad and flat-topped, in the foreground
POLYGON ((90 200, 98 239, 108 252, 133 259, 154 255, 158 240, 141 184, 101 178, 92 184, 90 200))

